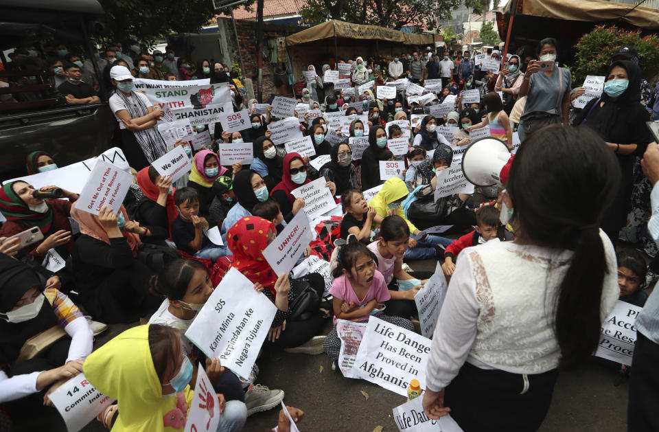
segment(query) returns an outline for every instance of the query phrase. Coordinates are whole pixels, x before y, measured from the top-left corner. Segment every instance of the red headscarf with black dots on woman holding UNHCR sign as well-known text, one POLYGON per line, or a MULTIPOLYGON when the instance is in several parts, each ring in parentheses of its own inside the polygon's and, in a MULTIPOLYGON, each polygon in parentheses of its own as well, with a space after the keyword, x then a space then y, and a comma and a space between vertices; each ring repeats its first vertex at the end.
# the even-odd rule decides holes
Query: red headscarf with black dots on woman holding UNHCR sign
POLYGON ((246 216, 227 231, 227 246, 233 253, 233 267, 254 284, 258 282, 276 295, 277 274, 263 258, 270 231, 277 233, 270 220, 246 216))

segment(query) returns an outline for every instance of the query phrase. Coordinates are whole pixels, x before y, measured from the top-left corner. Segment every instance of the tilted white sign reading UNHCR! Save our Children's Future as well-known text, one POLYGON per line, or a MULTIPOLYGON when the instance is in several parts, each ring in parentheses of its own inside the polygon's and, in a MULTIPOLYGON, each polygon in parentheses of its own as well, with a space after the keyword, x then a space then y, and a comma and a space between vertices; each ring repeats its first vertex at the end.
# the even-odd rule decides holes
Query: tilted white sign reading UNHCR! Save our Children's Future
POLYGON ((297 212, 279 236, 264 249, 263 256, 277 275, 288 273, 311 240, 309 218, 304 211, 297 212))

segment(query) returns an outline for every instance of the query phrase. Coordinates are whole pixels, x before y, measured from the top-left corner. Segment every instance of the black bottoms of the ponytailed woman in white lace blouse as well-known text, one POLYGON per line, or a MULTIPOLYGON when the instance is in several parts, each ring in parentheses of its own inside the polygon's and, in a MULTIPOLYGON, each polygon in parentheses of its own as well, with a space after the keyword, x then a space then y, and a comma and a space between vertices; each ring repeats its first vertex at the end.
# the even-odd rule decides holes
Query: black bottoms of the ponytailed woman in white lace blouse
POLYGON ((450 407, 451 417, 465 432, 537 431, 557 376, 557 370, 520 375, 465 363, 446 387, 444 406, 450 407))

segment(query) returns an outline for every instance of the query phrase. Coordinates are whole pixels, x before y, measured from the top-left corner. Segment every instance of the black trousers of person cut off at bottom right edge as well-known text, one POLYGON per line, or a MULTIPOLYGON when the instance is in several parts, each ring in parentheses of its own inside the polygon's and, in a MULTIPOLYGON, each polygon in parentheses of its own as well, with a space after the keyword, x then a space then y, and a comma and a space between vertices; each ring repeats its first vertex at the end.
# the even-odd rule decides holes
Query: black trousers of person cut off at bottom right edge
POLYGON ((627 431, 659 431, 659 345, 636 332, 632 373, 629 375, 627 431))

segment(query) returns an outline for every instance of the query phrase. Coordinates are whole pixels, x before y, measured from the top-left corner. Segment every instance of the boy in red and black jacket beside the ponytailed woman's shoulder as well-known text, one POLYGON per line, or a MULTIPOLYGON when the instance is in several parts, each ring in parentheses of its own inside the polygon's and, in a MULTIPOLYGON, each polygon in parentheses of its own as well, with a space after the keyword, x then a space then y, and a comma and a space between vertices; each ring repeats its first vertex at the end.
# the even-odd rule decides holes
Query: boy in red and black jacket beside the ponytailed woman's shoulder
POLYGON ((489 242, 489 240, 494 240, 494 238, 505 240, 505 227, 501 226, 499 214, 500 210, 491 205, 481 207, 476 212, 476 229, 461 238, 453 240, 446 247, 446 251, 444 251, 444 263, 441 264, 441 269, 446 277, 450 277, 455 271, 456 258, 465 247, 480 245, 481 243, 489 242))

